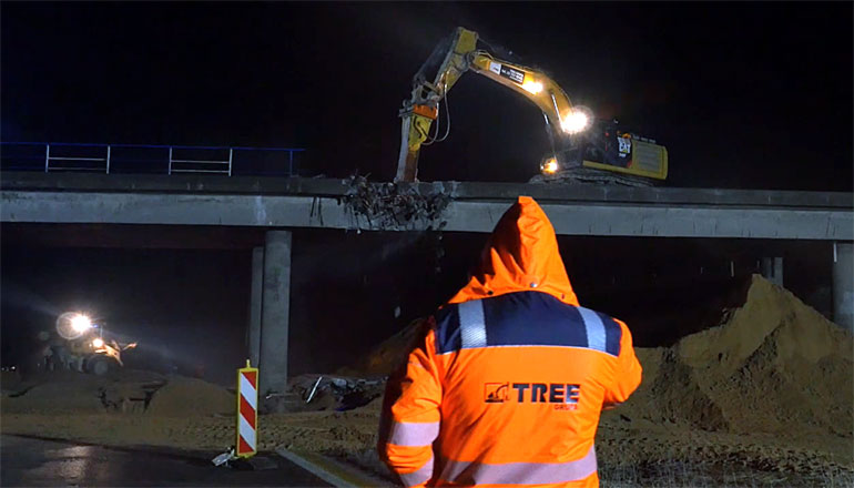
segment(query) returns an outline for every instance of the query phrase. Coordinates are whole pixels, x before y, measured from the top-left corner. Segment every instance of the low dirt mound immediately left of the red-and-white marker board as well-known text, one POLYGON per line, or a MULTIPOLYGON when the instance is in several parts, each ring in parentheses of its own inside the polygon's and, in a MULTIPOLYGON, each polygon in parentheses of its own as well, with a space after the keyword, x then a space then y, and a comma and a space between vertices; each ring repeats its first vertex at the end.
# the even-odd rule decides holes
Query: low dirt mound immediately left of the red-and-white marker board
POLYGON ((146 415, 161 417, 234 415, 235 395, 227 389, 195 378, 174 376, 154 393, 146 415))

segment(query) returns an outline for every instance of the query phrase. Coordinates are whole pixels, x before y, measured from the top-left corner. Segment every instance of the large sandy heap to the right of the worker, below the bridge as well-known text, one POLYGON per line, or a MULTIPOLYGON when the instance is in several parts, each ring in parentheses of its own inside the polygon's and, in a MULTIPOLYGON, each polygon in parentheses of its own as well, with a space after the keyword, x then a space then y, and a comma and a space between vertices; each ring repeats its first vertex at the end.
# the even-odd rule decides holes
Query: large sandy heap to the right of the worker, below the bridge
POLYGON ((644 378, 619 409, 728 433, 852 437, 852 336, 759 275, 723 323, 638 349, 644 378))

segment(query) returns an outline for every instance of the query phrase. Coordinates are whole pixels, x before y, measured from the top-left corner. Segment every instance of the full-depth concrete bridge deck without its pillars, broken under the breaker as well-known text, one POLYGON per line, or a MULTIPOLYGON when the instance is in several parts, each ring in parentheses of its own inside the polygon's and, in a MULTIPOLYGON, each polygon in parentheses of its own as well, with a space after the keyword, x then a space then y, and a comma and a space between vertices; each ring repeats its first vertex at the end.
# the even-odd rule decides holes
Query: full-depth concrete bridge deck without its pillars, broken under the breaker
POLYGON ((449 203, 400 222, 343 204, 349 190, 331 179, 3 173, 0 221, 490 232, 529 195, 565 235, 854 240, 851 193, 419 183, 449 203))

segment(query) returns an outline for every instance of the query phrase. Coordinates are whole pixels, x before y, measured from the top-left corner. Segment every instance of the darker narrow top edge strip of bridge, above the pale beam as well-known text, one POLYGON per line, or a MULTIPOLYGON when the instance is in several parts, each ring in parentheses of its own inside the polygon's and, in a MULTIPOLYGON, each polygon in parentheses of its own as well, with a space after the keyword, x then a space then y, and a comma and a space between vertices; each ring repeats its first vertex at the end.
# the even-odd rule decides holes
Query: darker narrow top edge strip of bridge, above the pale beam
MULTIPOLYGON (((400 183, 427 195, 441 192, 453 200, 514 200, 528 195, 538 202, 702 204, 777 207, 852 209, 854 195, 841 192, 777 190, 679 189, 669 186, 561 185, 542 183, 433 182, 400 183)), ((3 172, 2 191, 252 194, 338 197, 350 190, 348 180, 215 175, 122 175, 90 173, 3 172)))

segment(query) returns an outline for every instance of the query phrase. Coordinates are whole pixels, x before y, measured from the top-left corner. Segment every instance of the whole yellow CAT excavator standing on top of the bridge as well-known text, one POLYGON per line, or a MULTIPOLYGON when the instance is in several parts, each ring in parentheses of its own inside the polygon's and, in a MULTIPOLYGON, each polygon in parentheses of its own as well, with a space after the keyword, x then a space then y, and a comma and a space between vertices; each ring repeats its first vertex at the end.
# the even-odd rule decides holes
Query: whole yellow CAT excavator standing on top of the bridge
POLYGON ((401 142, 395 182, 417 181, 421 146, 448 136, 447 94, 468 71, 509 88, 542 111, 551 148, 540 161, 541 175, 532 181, 648 186, 667 179, 664 146, 622 131, 617 121, 597 120, 590 109, 572 104, 563 89, 542 71, 498 59, 478 44, 487 43, 478 39, 477 32, 457 28, 413 78, 411 98, 404 101, 399 112, 401 142), (427 73, 433 70, 436 75, 428 81, 427 73), (438 136, 443 100, 446 129, 438 136), (435 134, 430 134, 434 122, 435 134))

